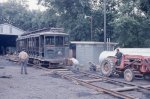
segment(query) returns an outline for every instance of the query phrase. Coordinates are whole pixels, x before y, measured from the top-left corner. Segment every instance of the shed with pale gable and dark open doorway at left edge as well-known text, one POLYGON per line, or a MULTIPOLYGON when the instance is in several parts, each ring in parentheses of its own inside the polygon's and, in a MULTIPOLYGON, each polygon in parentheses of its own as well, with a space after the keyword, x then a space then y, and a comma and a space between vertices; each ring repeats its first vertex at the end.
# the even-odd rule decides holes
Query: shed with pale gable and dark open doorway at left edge
POLYGON ((25 31, 8 23, 0 24, 0 55, 12 53, 16 48, 16 39, 25 31))

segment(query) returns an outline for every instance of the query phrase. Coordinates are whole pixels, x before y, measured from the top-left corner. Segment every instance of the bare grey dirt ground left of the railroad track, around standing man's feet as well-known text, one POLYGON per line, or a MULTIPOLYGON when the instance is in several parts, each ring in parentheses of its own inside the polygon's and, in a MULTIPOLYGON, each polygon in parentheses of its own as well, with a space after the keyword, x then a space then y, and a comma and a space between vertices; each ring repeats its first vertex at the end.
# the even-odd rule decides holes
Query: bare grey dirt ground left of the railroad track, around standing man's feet
POLYGON ((48 72, 28 67, 28 75, 20 74, 20 66, 0 57, 0 99, 114 99, 71 81, 51 77, 48 72))

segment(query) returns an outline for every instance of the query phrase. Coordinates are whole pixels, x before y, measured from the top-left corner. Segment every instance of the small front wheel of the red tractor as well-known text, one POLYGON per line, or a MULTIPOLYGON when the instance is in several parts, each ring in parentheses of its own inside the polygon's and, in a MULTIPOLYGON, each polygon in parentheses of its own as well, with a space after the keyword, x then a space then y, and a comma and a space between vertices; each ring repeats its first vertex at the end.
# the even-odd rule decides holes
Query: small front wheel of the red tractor
POLYGON ((126 80, 126 81, 129 81, 129 82, 131 82, 133 79, 134 79, 134 73, 133 73, 133 70, 131 70, 131 69, 126 69, 125 71, 124 71, 124 79, 126 80))

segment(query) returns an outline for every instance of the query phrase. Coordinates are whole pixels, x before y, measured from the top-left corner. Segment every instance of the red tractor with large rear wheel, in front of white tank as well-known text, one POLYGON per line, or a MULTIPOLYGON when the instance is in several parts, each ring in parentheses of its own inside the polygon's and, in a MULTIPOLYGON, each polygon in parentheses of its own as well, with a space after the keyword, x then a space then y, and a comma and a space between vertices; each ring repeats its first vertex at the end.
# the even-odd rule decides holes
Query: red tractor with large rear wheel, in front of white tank
POLYGON ((101 73, 104 76, 123 74, 126 81, 132 81, 136 76, 150 77, 150 57, 142 55, 123 55, 119 65, 117 58, 108 56, 101 62, 101 73))

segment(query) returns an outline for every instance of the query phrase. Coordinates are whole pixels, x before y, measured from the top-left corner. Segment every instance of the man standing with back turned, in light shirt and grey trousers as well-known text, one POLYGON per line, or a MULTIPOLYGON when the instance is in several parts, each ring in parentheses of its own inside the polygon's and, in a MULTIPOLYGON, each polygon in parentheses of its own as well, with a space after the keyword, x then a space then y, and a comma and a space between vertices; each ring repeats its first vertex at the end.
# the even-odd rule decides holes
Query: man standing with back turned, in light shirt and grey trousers
POLYGON ((25 74, 27 74, 27 62, 28 62, 28 54, 25 52, 25 49, 19 53, 19 61, 21 64, 21 74, 23 74, 23 70, 25 74))

